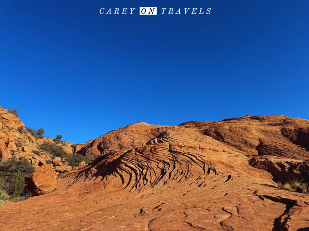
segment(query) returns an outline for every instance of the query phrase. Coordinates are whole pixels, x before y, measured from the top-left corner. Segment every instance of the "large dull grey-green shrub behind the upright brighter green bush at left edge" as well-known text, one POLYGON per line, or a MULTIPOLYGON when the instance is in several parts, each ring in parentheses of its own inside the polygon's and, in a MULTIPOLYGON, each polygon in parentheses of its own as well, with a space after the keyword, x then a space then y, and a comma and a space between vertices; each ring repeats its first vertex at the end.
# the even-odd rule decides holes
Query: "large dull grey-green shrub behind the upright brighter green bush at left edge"
POLYGON ((6 190, 9 193, 9 188, 11 182, 14 178, 16 172, 20 172, 21 176, 30 175, 35 171, 35 167, 28 162, 24 157, 11 157, 0 163, 0 179, 1 179, 1 188, 6 190))

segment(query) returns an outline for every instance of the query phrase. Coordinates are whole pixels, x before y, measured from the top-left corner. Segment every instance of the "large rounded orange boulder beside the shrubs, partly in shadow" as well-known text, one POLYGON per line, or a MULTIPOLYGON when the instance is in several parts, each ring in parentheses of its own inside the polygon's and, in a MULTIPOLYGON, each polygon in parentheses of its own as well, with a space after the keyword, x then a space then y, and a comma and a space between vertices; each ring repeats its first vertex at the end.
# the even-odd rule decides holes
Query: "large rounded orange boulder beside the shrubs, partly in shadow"
POLYGON ((31 175, 25 177, 26 190, 32 196, 39 196, 52 191, 57 184, 56 175, 51 165, 42 165, 31 175))

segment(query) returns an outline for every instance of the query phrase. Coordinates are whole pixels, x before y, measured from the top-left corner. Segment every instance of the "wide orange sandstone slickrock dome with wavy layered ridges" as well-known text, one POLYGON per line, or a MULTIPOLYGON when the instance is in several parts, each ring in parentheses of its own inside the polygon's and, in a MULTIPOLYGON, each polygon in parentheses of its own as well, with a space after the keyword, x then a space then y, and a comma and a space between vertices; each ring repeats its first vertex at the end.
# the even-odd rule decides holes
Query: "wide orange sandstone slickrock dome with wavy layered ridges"
POLYGON ((305 171, 298 164, 309 157, 308 134, 308 120, 286 116, 171 127, 131 124, 82 148, 93 163, 59 174, 53 192, 1 206, 0 225, 3 230, 309 230, 309 194, 278 188, 272 175, 284 161, 290 164, 286 174, 292 165, 294 174, 305 171))

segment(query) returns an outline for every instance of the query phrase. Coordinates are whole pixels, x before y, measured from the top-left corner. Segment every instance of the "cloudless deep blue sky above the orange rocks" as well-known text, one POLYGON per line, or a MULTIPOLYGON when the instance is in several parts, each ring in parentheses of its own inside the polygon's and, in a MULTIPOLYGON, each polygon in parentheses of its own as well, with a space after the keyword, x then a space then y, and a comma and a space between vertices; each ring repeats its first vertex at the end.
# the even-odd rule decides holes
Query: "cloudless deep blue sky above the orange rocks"
POLYGON ((308 9, 307 0, 2 1, 0 105, 74 143, 138 121, 309 119, 308 9), (99 14, 140 6, 212 10, 99 14))

